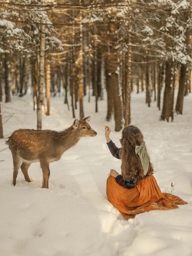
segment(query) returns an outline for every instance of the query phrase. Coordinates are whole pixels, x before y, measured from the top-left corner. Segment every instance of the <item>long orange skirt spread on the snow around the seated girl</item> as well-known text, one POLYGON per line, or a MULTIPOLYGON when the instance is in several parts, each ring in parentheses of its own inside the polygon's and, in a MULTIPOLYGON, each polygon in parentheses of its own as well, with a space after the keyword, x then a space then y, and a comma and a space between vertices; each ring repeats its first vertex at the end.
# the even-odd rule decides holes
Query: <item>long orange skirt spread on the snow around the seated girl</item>
POLYGON ((124 188, 114 177, 109 176, 107 198, 126 219, 145 211, 176 209, 177 205, 187 204, 178 196, 162 193, 153 175, 137 181, 131 189, 124 188))

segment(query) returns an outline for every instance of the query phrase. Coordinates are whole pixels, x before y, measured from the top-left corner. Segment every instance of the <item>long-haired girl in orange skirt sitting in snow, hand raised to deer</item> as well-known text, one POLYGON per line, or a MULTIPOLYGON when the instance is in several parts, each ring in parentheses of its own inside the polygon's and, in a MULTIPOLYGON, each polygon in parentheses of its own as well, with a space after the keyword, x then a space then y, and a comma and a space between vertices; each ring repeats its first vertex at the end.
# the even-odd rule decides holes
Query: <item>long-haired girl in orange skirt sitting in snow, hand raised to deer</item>
POLYGON ((105 126, 105 137, 111 154, 122 160, 122 175, 111 169, 107 179, 107 198, 124 218, 150 210, 178 208, 186 204, 181 198, 162 193, 149 160, 143 135, 139 128, 127 126, 122 130, 121 148, 111 141, 111 129, 105 126))

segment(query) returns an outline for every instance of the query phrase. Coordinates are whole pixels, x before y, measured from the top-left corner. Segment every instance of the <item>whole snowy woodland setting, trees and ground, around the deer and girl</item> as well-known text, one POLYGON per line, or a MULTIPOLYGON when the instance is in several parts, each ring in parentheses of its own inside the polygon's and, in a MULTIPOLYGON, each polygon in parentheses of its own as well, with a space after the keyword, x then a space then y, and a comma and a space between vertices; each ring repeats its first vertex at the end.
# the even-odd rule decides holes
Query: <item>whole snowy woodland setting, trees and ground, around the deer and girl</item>
POLYGON ((191 69, 191 0, 0 0, 0 256, 191 256, 191 69), (39 163, 13 186, 14 130, 88 115, 97 136, 50 164, 49 189, 39 163), (127 221, 107 200, 121 162, 103 125, 119 147, 128 124, 187 205, 127 221))

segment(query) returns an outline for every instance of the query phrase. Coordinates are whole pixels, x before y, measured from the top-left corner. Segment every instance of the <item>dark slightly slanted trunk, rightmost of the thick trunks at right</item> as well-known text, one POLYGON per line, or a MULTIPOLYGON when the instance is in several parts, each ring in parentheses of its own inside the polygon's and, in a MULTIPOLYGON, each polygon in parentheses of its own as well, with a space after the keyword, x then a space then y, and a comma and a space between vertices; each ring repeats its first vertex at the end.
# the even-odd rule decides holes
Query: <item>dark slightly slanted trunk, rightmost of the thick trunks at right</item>
POLYGON ((181 115, 183 112, 183 100, 184 100, 184 94, 186 89, 186 86, 185 86, 186 75, 187 75, 187 66, 184 64, 181 64, 179 90, 177 94, 177 102, 175 107, 177 114, 181 114, 181 115))

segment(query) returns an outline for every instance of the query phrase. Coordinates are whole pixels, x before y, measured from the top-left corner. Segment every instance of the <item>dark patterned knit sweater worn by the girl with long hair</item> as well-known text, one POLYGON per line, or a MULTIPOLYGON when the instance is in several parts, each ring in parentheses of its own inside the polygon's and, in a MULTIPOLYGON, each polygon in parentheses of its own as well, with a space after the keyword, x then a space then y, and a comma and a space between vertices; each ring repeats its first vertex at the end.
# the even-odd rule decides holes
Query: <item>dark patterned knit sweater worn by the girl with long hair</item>
MULTIPOLYGON (((120 158, 120 150, 121 147, 117 147, 115 145, 115 143, 113 143, 113 141, 109 141, 107 143, 107 146, 109 147, 109 150, 112 154, 112 156, 114 156, 117 159, 121 159, 120 158)), ((116 178, 117 183, 119 183, 119 185, 123 186, 124 188, 134 188, 135 184, 137 183, 137 179, 128 179, 128 180, 124 180, 122 175, 118 175, 116 178)))

